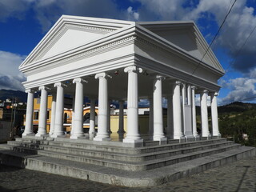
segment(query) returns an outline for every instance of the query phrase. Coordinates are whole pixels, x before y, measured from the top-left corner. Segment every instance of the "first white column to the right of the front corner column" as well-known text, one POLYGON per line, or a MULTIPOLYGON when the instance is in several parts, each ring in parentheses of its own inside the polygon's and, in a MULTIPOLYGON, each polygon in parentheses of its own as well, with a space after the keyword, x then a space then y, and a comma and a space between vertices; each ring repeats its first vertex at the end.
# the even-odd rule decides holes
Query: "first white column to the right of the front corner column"
POLYGON ((166 140, 162 122, 162 76, 156 76, 153 86, 154 99, 154 141, 166 140))

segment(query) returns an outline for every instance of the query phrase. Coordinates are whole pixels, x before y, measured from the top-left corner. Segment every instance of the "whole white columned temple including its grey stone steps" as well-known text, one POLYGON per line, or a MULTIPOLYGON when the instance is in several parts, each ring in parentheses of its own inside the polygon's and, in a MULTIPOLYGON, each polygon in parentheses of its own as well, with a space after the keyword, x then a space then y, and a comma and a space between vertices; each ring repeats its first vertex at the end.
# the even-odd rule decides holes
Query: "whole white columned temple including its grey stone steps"
POLYGON ((255 156, 254 147, 220 137, 216 97, 224 70, 208 47, 194 22, 62 16, 19 68, 27 77, 26 128, 22 138, 0 145, 0 163, 133 187, 173 182, 255 156), (64 130, 66 96, 72 98, 70 137, 64 130), (83 131, 84 97, 90 98, 89 134, 83 131), (138 108, 140 99, 148 109, 138 108), (119 102, 111 118, 115 128, 112 101, 119 102))

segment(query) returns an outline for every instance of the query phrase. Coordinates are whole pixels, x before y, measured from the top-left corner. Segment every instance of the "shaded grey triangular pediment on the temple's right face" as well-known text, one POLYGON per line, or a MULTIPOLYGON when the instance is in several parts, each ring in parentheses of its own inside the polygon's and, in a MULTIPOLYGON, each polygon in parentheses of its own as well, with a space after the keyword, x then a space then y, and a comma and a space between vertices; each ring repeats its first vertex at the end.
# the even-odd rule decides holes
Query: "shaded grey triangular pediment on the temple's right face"
POLYGON ((208 44, 194 22, 141 22, 140 25, 194 58, 224 72, 212 50, 207 50, 208 44))

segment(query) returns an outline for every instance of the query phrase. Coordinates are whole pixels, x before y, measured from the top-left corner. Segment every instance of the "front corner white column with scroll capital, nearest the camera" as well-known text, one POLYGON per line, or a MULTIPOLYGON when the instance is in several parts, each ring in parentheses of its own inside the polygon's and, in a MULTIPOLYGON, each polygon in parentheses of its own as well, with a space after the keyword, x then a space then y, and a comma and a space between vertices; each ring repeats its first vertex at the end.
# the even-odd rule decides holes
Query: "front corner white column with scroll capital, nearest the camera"
POLYGON ((142 73, 142 69, 136 66, 128 66, 124 71, 128 73, 128 93, 127 134, 123 142, 143 142, 138 131, 138 72, 142 73))

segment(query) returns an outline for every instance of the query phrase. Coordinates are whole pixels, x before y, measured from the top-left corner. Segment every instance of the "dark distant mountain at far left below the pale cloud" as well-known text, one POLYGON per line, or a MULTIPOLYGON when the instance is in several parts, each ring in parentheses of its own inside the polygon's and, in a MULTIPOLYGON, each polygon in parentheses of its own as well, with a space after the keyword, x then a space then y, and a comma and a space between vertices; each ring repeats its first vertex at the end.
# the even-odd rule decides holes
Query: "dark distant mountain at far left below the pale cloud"
POLYGON ((18 98, 18 102, 26 102, 27 94, 20 90, 0 90, 0 100, 18 98))

